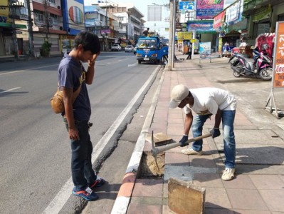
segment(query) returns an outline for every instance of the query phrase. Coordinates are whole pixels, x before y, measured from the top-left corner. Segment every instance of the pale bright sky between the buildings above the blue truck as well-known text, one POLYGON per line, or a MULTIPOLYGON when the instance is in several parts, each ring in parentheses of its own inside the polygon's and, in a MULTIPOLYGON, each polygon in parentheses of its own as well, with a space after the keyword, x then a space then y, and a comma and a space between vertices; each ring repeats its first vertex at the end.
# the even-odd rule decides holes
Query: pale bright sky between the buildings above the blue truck
MULTIPOLYGON (((102 0, 105 1, 105 0, 102 0)), ((91 5, 98 3, 97 0, 84 0, 85 5, 91 5)), ((120 3, 133 3, 134 6, 144 14, 144 23, 145 28, 149 27, 149 31, 156 31, 160 36, 165 36, 169 38, 169 32, 165 31, 165 28, 169 28, 169 22, 165 22, 164 19, 169 17, 169 9, 162 6, 162 21, 147 21, 147 6, 148 5, 166 5, 169 4, 169 0, 107 0, 107 3, 120 4, 120 3), (154 4, 153 4, 154 3, 154 4)))

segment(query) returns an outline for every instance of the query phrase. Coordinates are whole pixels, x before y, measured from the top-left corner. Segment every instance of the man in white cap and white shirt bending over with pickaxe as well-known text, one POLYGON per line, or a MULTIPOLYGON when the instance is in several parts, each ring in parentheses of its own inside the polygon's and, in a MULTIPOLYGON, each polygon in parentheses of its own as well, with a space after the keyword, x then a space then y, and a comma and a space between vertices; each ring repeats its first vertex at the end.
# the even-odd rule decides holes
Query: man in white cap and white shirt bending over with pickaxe
MULTIPOLYGON (((212 138, 221 135, 219 126, 222 121, 224 153, 226 157, 225 170, 222 179, 231 180, 235 173, 236 142, 233 133, 233 121, 236 114, 236 98, 220 88, 194 88, 190 89, 184 85, 174 86, 172 89, 172 99, 169 108, 183 108, 185 116, 184 136, 179 141, 182 146, 186 146, 189 130, 192 128, 194 138, 202 135, 205 121, 215 115, 215 125, 210 131, 212 138), (193 116, 192 111, 196 113, 193 116)), ((202 140, 194 141, 191 148, 182 150, 186 155, 201 156, 202 140)))

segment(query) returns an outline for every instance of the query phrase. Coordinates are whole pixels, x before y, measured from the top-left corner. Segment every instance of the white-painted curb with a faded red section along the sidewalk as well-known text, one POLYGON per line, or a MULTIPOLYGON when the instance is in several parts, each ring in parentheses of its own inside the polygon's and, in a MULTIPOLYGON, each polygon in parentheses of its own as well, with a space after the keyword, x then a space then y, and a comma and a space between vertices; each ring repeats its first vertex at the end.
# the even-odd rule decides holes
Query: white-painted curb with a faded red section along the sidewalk
POLYGON ((163 81, 164 81, 164 71, 162 73, 156 92, 154 93, 154 97, 152 98, 152 104, 149 108, 146 119, 144 121, 142 131, 136 141, 134 151, 130 158, 130 162, 128 163, 127 169, 125 171, 125 176, 122 180, 122 185, 120 186, 120 190, 117 193, 117 198, 115 199, 115 204, 112 207, 111 214, 125 214, 127 212, 132 191, 135 186, 137 173, 140 167, 142 153, 144 150, 144 144, 146 141, 146 137, 149 133, 149 128, 152 123, 152 118, 154 116, 154 111, 157 106, 159 93, 161 91, 163 81))

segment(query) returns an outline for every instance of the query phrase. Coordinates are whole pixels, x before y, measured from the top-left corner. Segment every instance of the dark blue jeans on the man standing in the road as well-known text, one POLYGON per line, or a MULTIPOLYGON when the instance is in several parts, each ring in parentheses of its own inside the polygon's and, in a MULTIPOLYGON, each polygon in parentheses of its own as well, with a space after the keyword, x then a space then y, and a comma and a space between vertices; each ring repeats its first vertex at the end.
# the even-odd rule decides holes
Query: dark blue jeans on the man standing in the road
MULTIPOLYGON (((68 123, 64 118, 65 126, 68 130, 68 123)), ((72 179, 77 190, 85 189, 88 184, 93 184, 97 175, 92 168, 93 145, 90 141, 88 121, 75 121, 78 128, 80 140, 70 140, 72 157, 71 171, 72 179)))

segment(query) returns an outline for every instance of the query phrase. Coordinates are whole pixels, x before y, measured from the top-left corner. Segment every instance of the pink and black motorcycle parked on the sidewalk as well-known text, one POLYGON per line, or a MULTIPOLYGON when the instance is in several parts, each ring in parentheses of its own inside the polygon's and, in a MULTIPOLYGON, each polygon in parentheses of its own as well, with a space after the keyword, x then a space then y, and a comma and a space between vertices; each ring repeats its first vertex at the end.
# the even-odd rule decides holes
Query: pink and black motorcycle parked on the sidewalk
POLYGON ((273 61, 265 54, 265 49, 261 52, 258 49, 253 50, 253 58, 244 54, 233 53, 229 59, 233 76, 256 76, 265 81, 271 80, 273 76, 273 61))

